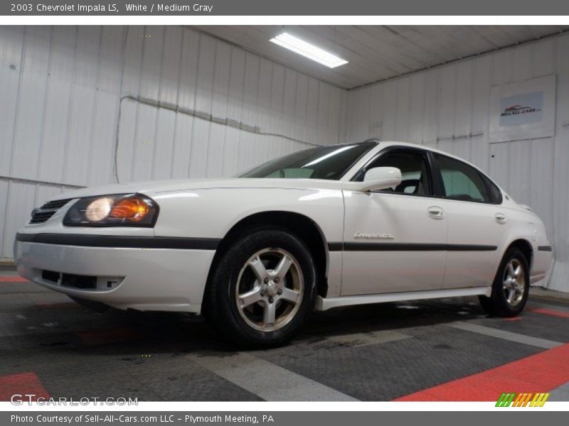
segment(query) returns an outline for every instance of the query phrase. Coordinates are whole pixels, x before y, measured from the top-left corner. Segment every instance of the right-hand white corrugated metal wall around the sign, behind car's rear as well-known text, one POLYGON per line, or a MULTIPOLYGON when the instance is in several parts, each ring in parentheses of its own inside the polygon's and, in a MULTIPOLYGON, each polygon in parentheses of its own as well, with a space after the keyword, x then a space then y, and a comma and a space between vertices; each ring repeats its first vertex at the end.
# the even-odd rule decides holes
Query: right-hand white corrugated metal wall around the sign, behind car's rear
POLYGON ((569 35, 560 35, 349 92, 342 138, 435 146, 478 165, 546 223, 549 288, 569 291, 569 35), (557 75, 555 137, 489 143, 493 85, 557 75))

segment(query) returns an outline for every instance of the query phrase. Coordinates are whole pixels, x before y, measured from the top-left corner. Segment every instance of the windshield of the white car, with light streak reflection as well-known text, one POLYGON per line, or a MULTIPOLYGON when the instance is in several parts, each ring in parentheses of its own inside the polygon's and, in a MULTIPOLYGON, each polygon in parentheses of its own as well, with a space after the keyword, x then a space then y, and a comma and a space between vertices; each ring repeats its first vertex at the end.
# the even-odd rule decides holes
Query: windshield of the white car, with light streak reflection
POLYGON ((271 160, 240 178, 289 178, 339 180, 376 142, 323 146, 271 160))

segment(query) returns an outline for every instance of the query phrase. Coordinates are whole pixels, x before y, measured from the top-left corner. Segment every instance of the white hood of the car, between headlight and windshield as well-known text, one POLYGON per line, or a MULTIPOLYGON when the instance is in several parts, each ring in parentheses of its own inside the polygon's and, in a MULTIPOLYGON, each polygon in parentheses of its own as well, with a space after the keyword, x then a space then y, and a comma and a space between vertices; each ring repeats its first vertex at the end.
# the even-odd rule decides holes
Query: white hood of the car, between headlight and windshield
POLYGON ((177 192, 184 190, 210 190, 214 188, 243 189, 243 188, 281 188, 296 190, 340 190, 342 183, 338 180, 321 179, 254 179, 254 178, 228 178, 228 179, 184 179, 163 180, 150 182, 118 183, 88 187, 81 190, 64 192, 50 200, 65 200, 96 195, 127 194, 138 192, 151 197, 163 192, 177 192))

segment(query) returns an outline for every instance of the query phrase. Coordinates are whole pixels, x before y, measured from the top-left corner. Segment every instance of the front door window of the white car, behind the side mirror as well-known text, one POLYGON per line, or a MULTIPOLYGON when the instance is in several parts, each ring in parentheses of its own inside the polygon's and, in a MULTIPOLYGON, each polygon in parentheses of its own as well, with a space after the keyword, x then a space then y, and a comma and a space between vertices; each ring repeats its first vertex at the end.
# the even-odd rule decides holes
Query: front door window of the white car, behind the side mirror
POLYGON ((374 167, 396 167, 401 170, 401 183, 395 190, 388 191, 408 195, 431 195, 429 169, 425 156, 420 153, 390 151, 373 160, 367 169, 374 167))

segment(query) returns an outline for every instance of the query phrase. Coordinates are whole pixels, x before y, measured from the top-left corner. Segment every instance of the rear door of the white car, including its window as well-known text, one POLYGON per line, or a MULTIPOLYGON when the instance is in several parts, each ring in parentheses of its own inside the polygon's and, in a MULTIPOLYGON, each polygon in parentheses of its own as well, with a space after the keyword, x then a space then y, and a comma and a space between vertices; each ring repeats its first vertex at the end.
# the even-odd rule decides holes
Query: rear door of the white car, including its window
POLYGON ((501 192, 471 165, 439 153, 432 156, 440 170, 437 175, 444 196, 440 203, 448 221, 443 288, 489 285, 509 227, 501 192))

